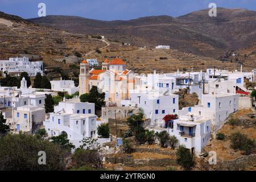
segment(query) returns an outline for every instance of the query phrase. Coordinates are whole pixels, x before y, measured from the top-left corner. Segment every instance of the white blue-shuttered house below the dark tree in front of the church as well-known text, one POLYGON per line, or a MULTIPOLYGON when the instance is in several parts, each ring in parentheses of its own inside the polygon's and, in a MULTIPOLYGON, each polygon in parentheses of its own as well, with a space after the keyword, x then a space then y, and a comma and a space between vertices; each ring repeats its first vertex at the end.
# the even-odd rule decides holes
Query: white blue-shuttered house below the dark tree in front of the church
POLYGON ((97 116, 94 104, 88 102, 64 101, 54 107, 44 121, 49 137, 67 134, 71 143, 80 146, 83 138, 97 137, 97 116))

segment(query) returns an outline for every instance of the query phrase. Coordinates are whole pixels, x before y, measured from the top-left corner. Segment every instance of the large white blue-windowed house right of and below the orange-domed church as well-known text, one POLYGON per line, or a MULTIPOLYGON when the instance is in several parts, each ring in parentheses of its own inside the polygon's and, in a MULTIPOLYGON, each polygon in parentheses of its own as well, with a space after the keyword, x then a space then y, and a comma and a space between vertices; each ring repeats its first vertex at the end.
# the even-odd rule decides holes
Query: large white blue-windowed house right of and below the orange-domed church
POLYGON ((162 94, 158 92, 142 93, 131 92, 130 101, 121 101, 123 106, 142 108, 146 118, 151 119, 151 126, 163 124, 163 117, 167 114, 177 114, 179 110, 179 96, 175 94, 162 94))

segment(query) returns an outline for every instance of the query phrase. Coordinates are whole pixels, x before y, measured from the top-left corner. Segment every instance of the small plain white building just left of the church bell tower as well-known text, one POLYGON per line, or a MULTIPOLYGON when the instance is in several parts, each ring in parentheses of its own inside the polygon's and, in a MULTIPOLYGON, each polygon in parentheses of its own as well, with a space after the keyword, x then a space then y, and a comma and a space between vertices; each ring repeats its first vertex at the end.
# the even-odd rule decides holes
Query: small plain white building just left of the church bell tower
POLYGON ((51 82, 51 90, 56 92, 68 92, 68 94, 73 94, 79 92, 79 87, 75 86, 73 80, 53 80, 51 82))

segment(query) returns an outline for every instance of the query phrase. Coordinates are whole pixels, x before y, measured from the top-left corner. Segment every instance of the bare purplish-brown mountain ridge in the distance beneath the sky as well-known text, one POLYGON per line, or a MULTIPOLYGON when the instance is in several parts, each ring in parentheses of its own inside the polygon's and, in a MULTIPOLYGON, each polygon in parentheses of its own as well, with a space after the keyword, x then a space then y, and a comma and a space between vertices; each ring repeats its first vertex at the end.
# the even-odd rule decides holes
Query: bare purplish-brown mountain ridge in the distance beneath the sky
POLYGON ((101 34, 109 40, 135 46, 170 45, 196 55, 218 58, 227 51, 250 47, 256 40, 256 12, 243 9, 208 10, 173 18, 148 16, 133 20, 102 21, 77 16, 46 16, 30 19, 47 27, 80 34, 101 34))

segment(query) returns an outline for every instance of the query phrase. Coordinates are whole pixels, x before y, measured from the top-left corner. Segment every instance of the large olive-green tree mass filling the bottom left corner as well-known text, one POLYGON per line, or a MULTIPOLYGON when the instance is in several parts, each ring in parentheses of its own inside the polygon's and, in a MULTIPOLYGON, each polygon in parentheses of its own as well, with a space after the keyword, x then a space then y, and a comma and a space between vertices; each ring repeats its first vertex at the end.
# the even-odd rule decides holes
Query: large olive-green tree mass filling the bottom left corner
MULTIPOLYGON (((42 154, 40 154, 42 156, 42 154)), ((65 169, 64 151, 42 138, 24 133, 0 138, 0 171, 57 171, 65 169), (46 164, 39 165, 39 151, 46 152, 46 164)))

